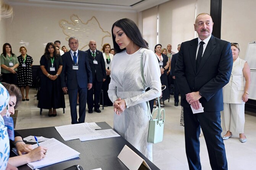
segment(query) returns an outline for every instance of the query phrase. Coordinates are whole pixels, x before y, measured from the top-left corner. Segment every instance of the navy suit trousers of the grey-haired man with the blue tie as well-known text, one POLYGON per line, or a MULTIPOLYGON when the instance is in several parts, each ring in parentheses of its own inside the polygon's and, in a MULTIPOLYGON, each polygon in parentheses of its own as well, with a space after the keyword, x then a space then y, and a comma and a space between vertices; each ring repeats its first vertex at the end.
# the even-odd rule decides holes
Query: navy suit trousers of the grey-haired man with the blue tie
POLYGON ((84 123, 86 109, 87 88, 68 90, 68 99, 70 103, 71 124, 84 123), (79 94, 79 119, 77 121, 77 93, 79 94))

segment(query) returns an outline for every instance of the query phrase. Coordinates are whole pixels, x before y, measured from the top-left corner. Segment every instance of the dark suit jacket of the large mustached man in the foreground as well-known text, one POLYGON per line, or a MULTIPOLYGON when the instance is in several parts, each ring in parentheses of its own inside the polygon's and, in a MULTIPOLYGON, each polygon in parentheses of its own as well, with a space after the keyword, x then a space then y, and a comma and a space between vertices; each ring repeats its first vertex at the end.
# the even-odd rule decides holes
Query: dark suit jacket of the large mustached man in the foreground
POLYGON ((233 66, 231 45, 212 35, 196 71, 197 46, 198 38, 186 41, 178 53, 175 78, 181 93, 181 106, 190 107, 186 94, 199 91, 204 111, 222 111, 222 87, 228 83, 233 66))

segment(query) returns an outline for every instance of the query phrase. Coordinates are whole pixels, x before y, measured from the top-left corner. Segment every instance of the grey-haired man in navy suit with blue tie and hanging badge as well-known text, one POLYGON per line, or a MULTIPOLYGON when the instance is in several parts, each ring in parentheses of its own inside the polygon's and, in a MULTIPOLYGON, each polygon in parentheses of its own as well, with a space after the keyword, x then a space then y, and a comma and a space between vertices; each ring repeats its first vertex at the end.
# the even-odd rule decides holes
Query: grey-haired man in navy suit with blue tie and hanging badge
POLYGON ((87 88, 92 88, 92 71, 87 52, 78 50, 78 39, 70 37, 68 40, 70 51, 62 55, 62 90, 68 91, 70 103, 71 123, 84 123, 87 98, 87 88), (79 119, 77 121, 77 94, 79 94, 79 119))

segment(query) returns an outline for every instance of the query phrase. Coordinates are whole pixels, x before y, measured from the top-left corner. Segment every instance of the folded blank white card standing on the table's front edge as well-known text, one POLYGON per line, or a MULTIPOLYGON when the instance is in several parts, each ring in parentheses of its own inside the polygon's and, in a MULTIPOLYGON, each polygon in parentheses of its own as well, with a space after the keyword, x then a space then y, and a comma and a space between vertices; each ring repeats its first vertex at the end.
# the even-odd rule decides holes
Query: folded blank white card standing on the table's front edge
POLYGON ((146 161, 131 150, 131 148, 129 148, 127 145, 123 147, 122 151, 118 155, 118 159, 120 159, 129 170, 138 170, 140 167, 151 170, 146 161))

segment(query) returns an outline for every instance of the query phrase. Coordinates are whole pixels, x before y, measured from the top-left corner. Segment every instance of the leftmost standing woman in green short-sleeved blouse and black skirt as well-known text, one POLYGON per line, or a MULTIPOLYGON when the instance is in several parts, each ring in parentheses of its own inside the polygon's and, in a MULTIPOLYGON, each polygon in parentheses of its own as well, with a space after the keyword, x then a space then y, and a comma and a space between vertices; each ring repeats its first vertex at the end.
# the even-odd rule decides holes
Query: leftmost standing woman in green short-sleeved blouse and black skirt
POLYGON ((19 66, 18 59, 11 50, 11 44, 3 44, 3 53, 1 58, 1 73, 3 75, 3 82, 10 84, 17 84, 17 67, 19 66))

